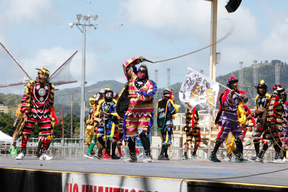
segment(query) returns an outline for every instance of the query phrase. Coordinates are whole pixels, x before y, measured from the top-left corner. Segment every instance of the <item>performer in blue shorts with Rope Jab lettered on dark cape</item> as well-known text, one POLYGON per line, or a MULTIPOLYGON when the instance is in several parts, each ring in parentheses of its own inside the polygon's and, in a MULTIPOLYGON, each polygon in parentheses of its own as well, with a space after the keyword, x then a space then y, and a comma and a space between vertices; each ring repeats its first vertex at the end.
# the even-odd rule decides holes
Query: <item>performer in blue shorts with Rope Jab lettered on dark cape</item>
MULTIPOLYGON (((174 104, 172 100, 173 92, 169 89, 164 89, 162 100, 157 103, 157 128, 162 135, 162 149, 158 160, 170 160, 168 157, 168 147, 171 146, 171 139, 173 133, 173 118, 177 117, 176 113, 180 105, 174 104)), ((175 100, 175 97, 174 97, 175 100)))

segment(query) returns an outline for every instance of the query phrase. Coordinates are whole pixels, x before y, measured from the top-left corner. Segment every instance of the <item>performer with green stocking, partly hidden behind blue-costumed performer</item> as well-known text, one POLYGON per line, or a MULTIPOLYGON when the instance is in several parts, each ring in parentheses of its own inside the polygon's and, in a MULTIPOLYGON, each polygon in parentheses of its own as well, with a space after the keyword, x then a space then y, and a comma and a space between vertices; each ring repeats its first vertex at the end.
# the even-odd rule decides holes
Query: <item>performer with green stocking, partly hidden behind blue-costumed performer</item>
MULTIPOLYGON (((92 125, 94 126, 94 136, 93 136, 93 138, 92 138, 92 141, 91 141, 91 143, 90 143, 90 146, 89 146, 89 149, 88 149, 88 151, 87 151, 87 153, 84 155, 84 157, 88 157, 88 158, 91 158, 91 159, 94 159, 95 158, 95 156, 94 156, 94 154, 93 154, 93 148, 94 148, 94 146, 96 145, 96 143, 98 142, 98 139, 97 139, 97 137, 96 137, 96 135, 97 135, 97 130, 98 130, 98 126, 99 126, 99 123, 100 123, 100 121, 101 121, 101 118, 100 118, 100 115, 99 115, 99 113, 97 113, 96 114, 96 109, 98 108, 98 105, 99 105, 99 102, 102 100, 102 99, 104 99, 104 92, 105 92, 105 89, 101 89, 97 94, 96 94, 96 96, 95 96, 95 100, 94 100, 94 108, 95 108, 95 110, 94 110, 94 112, 93 112, 93 117, 92 117, 92 119, 93 119, 93 123, 92 123, 92 125)), ((98 148, 98 150, 99 150, 99 148, 100 148, 100 143, 97 145, 97 148, 98 148)), ((101 152, 99 151, 99 154, 101 154, 102 155, 102 150, 101 150, 101 152)), ((106 155, 106 154, 105 154, 106 155)))

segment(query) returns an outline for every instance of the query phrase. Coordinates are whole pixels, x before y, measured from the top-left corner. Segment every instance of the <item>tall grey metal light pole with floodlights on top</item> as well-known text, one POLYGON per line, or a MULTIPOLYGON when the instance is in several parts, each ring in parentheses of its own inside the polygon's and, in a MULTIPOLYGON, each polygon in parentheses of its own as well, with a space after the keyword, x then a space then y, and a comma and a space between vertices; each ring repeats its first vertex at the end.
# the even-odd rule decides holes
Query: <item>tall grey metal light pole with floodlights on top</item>
POLYGON ((81 81, 81 106, 80 106, 80 139, 84 139, 84 107, 85 107, 85 41, 86 41, 86 31, 90 27, 94 27, 96 29, 98 25, 90 24, 90 18, 93 18, 96 20, 98 18, 98 15, 81 15, 76 14, 76 19, 78 19, 78 23, 69 23, 69 26, 72 28, 74 25, 76 25, 79 30, 83 33, 83 48, 82 48, 82 81, 81 81), (79 20, 83 18, 83 24, 79 23, 79 20), (89 24, 86 25, 86 21, 89 21, 89 24), (82 26, 82 29, 78 26, 82 26), (86 26, 89 26, 89 28, 86 30, 86 26))

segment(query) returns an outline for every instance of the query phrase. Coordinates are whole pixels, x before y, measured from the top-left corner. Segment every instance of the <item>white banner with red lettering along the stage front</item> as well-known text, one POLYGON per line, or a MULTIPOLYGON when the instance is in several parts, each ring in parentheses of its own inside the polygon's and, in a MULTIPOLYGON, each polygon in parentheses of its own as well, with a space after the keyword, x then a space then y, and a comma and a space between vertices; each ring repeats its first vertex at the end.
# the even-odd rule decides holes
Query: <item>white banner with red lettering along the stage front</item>
MULTIPOLYGON (((62 173, 62 192, 161 192, 179 191, 181 179, 62 173)), ((187 191, 183 181, 182 191, 187 191)))

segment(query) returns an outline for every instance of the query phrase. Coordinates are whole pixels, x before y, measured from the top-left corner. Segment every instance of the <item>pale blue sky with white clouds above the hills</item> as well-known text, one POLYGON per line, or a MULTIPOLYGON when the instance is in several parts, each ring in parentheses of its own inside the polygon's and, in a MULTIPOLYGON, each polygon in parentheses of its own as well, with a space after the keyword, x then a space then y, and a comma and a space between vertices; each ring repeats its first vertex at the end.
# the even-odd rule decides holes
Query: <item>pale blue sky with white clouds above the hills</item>
MULTIPOLYGON (((288 1, 243 0, 234 13, 218 0, 217 40, 235 26, 232 34, 217 43, 221 60, 216 76, 251 66, 253 60, 288 62, 288 1), (228 20, 229 19, 229 20, 228 20)), ((134 56, 165 60, 210 45, 211 2, 204 0, 3 0, 0 1, 0 42, 34 79, 35 68, 54 72, 76 50, 71 73, 78 80, 58 86, 79 87, 82 75, 83 34, 69 23, 75 15, 98 15, 86 31, 86 81, 126 82, 122 63, 134 56)), ((83 20, 80 20, 83 23, 83 20)), ((187 67, 209 76, 210 49, 159 63, 148 63, 149 79, 158 70, 158 87, 182 82, 187 67)), ((259 79, 259 78, 258 78, 259 79)), ((252 82, 251 82, 252 83, 252 82)), ((86 86, 87 86, 86 85, 86 86)))

